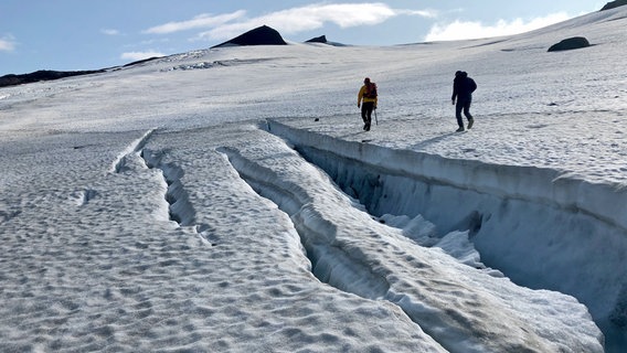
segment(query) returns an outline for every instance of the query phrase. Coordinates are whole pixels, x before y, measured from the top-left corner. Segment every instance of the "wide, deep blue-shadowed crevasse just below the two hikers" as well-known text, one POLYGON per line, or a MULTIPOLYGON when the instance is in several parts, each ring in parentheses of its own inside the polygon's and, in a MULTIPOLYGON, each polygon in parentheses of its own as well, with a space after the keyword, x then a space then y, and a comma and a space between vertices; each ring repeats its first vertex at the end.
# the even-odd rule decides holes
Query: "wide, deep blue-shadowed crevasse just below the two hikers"
POLYGON ((625 189, 551 169, 347 141, 274 120, 266 128, 372 214, 424 216, 440 237, 467 229, 482 263, 519 285, 574 296, 606 335, 626 340, 625 189))

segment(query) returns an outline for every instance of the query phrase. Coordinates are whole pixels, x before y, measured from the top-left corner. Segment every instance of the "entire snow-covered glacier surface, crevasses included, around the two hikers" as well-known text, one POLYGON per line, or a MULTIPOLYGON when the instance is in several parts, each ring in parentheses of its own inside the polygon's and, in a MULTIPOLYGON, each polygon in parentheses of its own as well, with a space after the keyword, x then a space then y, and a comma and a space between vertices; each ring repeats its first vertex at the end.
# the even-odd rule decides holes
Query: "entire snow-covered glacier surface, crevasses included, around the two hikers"
POLYGON ((0 351, 623 352, 626 19, 2 88, 0 351))

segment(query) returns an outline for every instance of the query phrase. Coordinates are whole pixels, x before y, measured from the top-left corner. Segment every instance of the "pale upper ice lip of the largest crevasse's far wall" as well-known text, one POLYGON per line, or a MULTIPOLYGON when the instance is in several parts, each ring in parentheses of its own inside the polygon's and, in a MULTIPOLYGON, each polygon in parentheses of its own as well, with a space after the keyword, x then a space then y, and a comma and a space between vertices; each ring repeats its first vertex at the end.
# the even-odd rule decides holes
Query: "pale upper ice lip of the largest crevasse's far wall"
POLYGON ((549 168, 489 164, 392 150, 291 128, 276 120, 268 120, 266 128, 293 143, 375 165, 387 174, 581 212, 627 231, 627 188, 621 185, 592 183, 549 168))

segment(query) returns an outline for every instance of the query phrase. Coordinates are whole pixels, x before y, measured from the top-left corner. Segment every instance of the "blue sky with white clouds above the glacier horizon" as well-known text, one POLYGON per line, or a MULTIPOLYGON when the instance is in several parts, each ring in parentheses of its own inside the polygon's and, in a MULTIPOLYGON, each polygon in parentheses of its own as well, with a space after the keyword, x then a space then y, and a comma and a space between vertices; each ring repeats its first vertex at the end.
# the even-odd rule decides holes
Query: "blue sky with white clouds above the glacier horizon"
POLYGON ((262 24, 287 41, 325 34, 355 45, 513 34, 606 2, 1 0, 0 75, 110 67, 210 47, 262 24))

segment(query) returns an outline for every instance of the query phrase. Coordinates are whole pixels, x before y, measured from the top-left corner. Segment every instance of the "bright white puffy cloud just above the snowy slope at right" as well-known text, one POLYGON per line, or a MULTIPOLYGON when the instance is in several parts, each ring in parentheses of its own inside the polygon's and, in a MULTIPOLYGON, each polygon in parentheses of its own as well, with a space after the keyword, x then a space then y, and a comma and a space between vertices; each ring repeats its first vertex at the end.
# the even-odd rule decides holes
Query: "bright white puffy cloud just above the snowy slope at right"
POLYGON ((455 21, 448 24, 435 24, 425 41, 455 41, 480 38, 491 38, 501 35, 519 34, 548 26, 570 19, 566 13, 560 12, 531 21, 516 19, 510 22, 499 20, 493 25, 486 25, 481 22, 455 21))

